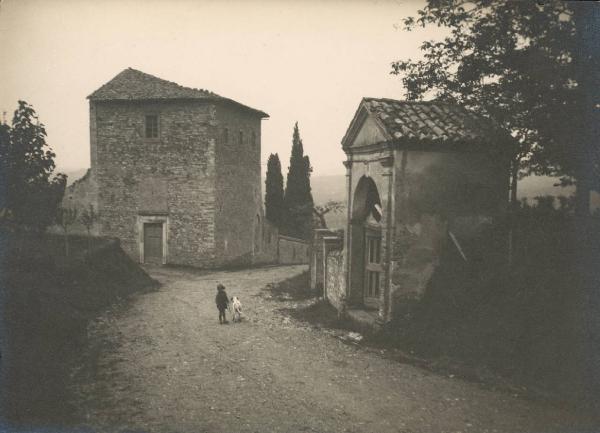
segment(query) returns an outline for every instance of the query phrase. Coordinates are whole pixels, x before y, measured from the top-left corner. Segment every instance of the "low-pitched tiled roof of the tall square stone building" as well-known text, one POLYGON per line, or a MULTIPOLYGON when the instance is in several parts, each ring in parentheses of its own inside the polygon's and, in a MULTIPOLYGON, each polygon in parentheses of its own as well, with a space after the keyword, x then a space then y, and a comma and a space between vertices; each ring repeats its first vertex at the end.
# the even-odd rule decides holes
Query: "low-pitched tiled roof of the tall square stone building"
POLYGON ((108 83, 88 96, 93 101, 134 101, 134 100, 168 100, 199 99, 233 103, 242 108, 254 111, 262 117, 268 114, 240 104, 216 93, 204 89, 180 86, 172 81, 163 80, 154 75, 136 69, 127 68, 117 74, 108 83))

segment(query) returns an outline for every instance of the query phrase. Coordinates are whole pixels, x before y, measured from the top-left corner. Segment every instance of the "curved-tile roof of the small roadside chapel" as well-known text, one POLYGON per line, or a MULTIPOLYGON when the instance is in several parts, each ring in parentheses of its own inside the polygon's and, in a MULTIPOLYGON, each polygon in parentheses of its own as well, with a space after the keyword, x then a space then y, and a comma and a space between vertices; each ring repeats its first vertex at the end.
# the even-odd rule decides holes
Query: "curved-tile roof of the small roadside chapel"
MULTIPOLYGON (((464 107, 444 102, 363 98, 359 112, 362 107, 376 118, 390 141, 495 142, 498 134, 503 132, 493 121, 464 107)), ((352 126, 344 137, 344 143, 351 129, 352 126)))

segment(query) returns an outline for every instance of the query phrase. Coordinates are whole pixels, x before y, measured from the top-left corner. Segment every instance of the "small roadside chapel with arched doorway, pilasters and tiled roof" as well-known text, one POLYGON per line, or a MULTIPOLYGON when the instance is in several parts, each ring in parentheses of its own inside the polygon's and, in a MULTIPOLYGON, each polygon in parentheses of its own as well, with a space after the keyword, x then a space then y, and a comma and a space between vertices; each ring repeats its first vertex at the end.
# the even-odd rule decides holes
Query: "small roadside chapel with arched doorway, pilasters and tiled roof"
POLYGON ((345 235, 317 231, 313 288, 385 323, 424 296, 444 260, 476 271, 506 214, 511 145, 460 106, 363 98, 342 139, 345 235))

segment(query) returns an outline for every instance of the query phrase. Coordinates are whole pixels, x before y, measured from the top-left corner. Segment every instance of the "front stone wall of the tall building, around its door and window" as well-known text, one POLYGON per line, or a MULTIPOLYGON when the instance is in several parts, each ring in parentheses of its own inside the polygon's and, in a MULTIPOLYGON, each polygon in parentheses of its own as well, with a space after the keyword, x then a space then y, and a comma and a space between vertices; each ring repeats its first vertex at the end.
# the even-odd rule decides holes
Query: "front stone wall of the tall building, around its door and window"
POLYGON ((199 101, 90 102, 100 234, 140 259, 139 215, 167 215, 167 263, 215 264, 213 105, 199 101), (159 137, 145 138, 156 114, 159 137))

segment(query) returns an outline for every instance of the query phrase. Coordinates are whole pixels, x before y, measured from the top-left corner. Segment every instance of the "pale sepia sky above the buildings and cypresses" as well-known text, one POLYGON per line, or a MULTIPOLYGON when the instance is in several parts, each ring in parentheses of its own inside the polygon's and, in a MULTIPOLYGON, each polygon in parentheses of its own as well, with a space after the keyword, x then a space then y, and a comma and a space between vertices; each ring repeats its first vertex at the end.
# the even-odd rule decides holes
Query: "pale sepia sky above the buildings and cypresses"
MULTIPOLYGON (((402 98, 393 60, 437 29, 404 32, 424 1, 2 0, 0 110, 46 125, 60 170, 89 166, 86 96, 132 67, 261 109, 263 164, 289 164, 299 122, 314 175, 344 173, 340 140, 363 96, 402 98)), ((263 165, 263 176, 264 176, 263 165)))

